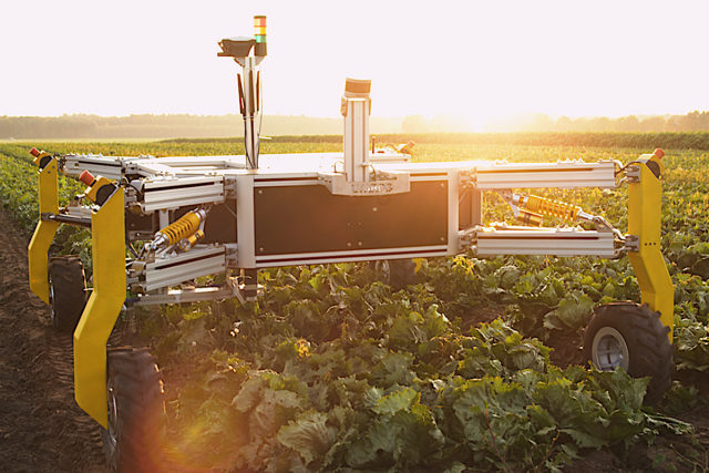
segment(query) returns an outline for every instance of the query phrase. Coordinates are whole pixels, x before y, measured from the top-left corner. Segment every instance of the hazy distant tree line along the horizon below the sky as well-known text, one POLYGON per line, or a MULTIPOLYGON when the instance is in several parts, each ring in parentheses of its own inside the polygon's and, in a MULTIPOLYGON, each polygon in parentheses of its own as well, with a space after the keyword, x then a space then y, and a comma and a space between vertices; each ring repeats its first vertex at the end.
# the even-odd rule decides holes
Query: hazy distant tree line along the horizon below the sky
MULTIPOLYGON (((620 119, 521 115, 492 121, 483 130, 473 130, 462 119, 421 115, 403 119, 372 117, 370 130, 376 134, 392 133, 462 133, 462 132, 709 132, 709 112, 620 119)), ((341 135, 339 117, 269 115, 264 117, 264 135, 341 135)), ((243 136, 240 115, 63 115, 0 116, 0 140, 107 140, 107 138, 175 138, 243 136)))

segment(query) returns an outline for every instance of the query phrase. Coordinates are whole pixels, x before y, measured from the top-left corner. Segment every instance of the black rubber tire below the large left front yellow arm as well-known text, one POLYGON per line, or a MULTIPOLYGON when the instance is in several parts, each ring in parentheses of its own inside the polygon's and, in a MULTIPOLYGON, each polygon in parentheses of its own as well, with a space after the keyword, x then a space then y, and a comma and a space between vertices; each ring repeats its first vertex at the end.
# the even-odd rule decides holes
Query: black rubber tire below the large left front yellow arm
POLYGON ((109 350, 109 429, 101 428, 109 467, 119 472, 166 471, 163 376, 147 349, 109 350))

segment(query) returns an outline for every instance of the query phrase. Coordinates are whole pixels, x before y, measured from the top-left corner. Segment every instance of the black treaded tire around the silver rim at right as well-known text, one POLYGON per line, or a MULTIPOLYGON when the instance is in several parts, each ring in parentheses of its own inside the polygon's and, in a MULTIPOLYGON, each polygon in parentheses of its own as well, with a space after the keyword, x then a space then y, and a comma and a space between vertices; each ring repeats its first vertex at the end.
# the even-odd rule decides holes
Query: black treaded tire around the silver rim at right
MULTIPOLYGON (((595 310, 584 333, 583 353, 588 362, 593 362, 597 353, 594 352, 594 341, 600 341, 604 332, 621 336, 628 352, 625 363, 628 374, 634 378, 650 377, 645 394, 645 402, 649 404, 662 399, 672 383, 675 371, 672 346, 667 336, 669 328, 660 322, 659 317, 660 313, 651 311, 647 305, 613 302, 595 310), (616 332, 613 332, 614 329, 616 332), (600 330, 604 332, 599 335, 600 330)), ((598 366, 596 368, 602 369, 598 366)))

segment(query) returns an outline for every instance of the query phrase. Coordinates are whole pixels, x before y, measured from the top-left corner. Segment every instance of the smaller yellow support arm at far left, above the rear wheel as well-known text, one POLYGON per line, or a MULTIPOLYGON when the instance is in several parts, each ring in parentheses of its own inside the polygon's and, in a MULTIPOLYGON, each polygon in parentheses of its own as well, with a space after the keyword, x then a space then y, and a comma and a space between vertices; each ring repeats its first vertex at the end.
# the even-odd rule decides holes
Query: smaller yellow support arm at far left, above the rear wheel
POLYGON ((42 214, 59 213, 59 191, 56 181, 56 160, 51 160, 39 172, 40 222, 28 246, 30 289, 44 304, 49 304, 49 247, 54 239, 59 223, 42 220, 42 214))

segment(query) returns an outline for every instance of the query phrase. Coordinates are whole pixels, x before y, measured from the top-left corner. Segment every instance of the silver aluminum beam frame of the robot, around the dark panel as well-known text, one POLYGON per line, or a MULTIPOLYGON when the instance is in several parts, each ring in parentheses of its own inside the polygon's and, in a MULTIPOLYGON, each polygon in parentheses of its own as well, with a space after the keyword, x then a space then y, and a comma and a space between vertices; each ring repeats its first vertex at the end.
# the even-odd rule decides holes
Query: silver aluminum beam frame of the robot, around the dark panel
MULTIPOLYGON (((395 177, 399 186, 405 183, 441 181, 448 186, 448 236, 440 245, 421 247, 394 247, 372 249, 343 249, 337 251, 312 251, 298 254, 256 254, 255 196, 261 187, 271 186, 326 186, 332 192, 335 178, 348 182, 345 173, 336 173, 341 153, 306 153, 261 155, 263 167, 248 169, 244 156, 174 156, 155 158, 104 157, 100 155, 66 155, 65 172, 78 175, 86 169, 100 174, 106 172, 112 178, 132 178, 126 205, 137 206, 150 215, 158 213, 161 226, 168 223, 169 210, 186 206, 224 203, 227 195, 236 199, 237 244, 197 245, 183 254, 162 255, 147 261, 142 279, 133 282, 142 291, 165 290, 196 277, 225 273, 227 269, 258 269, 278 266, 328 264, 399 258, 452 256, 472 248, 481 257, 496 255, 593 255, 605 258, 618 256, 615 237, 610 232, 592 232, 578 228, 483 228, 480 225, 481 205, 485 191, 514 189, 520 187, 615 187, 616 163, 600 161, 565 161, 557 163, 506 163, 506 162, 446 162, 410 163, 408 155, 372 153, 369 164, 372 174, 395 177), (121 169, 120 174, 117 169, 121 169), (140 177, 135 177, 140 176, 140 177), (330 178, 328 183, 327 176, 330 178), (471 209, 471 227, 461 230, 459 206, 461 192, 467 188, 475 193, 471 209), (237 249, 234 249, 237 248, 237 249), (227 256, 228 253, 228 256, 227 256)), ((362 182, 354 182, 361 184, 362 182)), ((376 183, 371 181, 368 184, 376 183)), ((350 183, 351 184, 351 183, 350 183)), ((372 193, 338 193, 372 195, 372 193)), ((387 195, 388 192, 374 193, 387 195)), ((75 210, 72 210, 74 213, 75 210)), ((130 233, 130 237, 145 238, 145 233, 130 233)), ((236 290, 238 291, 238 290, 236 290)), ((179 292, 165 294, 161 298, 143 299, 141 304, 163 304, 157 300, 178 300, 179 292)), ((193 292, 185 297, 224 297, 220 290, 193 292)), ((152 294, 152 296, 157 296, 152 294)), ((197 300, 195 299, 195 300, 197 300)), ((183 300, 183 299, 181 299, 183 300)), ((187 299, 184 299, 187 300, 187 299)))

